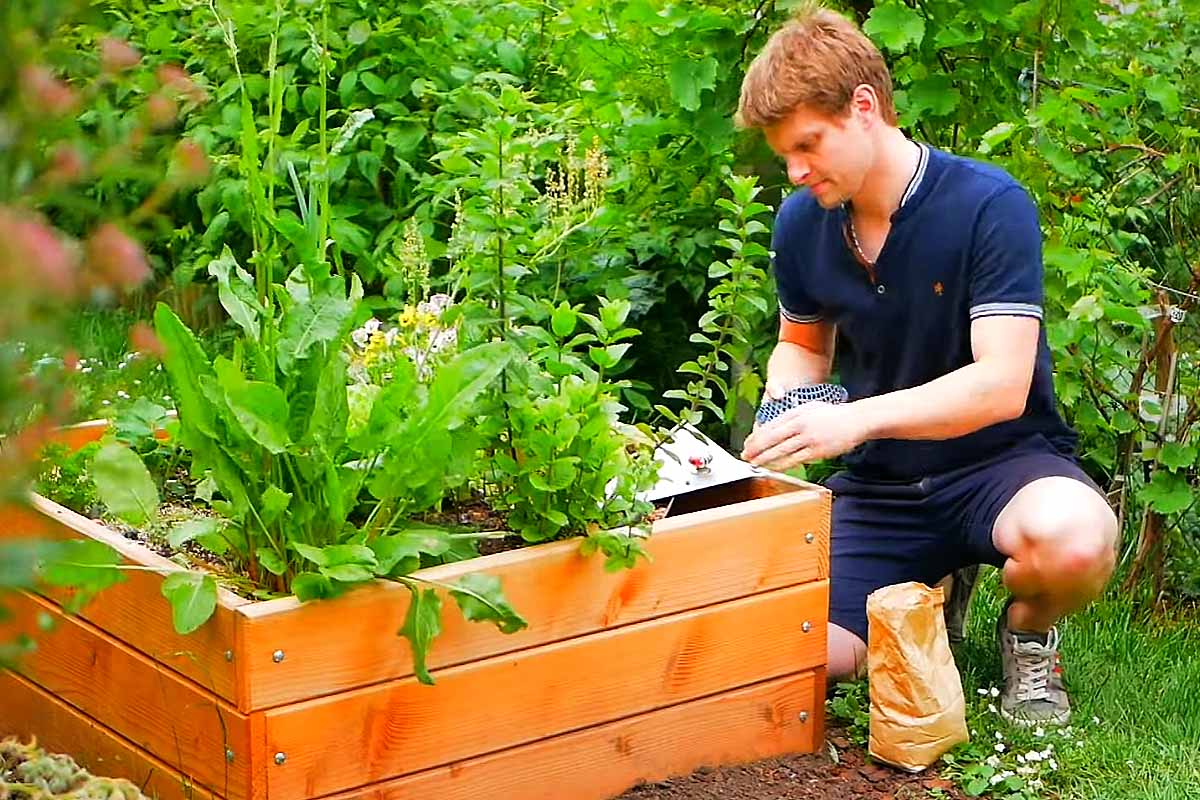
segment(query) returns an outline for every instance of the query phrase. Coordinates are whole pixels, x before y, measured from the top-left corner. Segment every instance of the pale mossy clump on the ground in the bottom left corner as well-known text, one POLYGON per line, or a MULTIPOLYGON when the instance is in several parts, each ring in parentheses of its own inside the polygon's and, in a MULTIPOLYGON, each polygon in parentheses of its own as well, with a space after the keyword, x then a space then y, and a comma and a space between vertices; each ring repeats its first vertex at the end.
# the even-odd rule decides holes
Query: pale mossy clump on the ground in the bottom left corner
POLYGON ((128 781, 96 777, 36 741, 0 741, 0 800, 149 800, 128 781))

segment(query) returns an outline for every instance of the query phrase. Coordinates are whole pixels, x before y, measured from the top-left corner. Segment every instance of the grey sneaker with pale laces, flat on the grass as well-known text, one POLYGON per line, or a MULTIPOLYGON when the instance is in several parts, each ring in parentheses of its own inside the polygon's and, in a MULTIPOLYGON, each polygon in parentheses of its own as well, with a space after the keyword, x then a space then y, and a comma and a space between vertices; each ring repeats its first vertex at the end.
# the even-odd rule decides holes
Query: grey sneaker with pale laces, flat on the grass
POLYGON ((1008 606, 1000 614, 997 634, 1004 672, 1000 715, 1019 726, 1061 726, 1070 720, 1070 700, 1058 663, 1058 628, 1049 633, 1012 631, 1008 606))

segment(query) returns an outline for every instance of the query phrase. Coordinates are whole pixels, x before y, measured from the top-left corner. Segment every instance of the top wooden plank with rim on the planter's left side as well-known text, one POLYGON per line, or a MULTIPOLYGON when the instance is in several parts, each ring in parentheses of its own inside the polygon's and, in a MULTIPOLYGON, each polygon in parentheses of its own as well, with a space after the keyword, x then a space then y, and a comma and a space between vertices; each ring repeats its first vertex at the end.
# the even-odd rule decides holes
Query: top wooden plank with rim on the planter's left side
MULTIPOLYGON (((94 539, 118 551, 126 563, 163 572, 180 569, 149 548, 38 495, 32 497, 28 507, 0 506, 0 540, 19 539, 94 539)), ((181 636, 175 632, 170 606, 161 589, 161 575, 130 571, 126 581, 100 593, 79 615, 218 697, 236 703, 236 664, 227 660, 226 652, 235 654, 239 618, 233 608, 250 601, 222 589, 212 619, 194 633, 181 636)), ((65 597, 66 593, 52 593, 52 599, 60 603, 65 597)))

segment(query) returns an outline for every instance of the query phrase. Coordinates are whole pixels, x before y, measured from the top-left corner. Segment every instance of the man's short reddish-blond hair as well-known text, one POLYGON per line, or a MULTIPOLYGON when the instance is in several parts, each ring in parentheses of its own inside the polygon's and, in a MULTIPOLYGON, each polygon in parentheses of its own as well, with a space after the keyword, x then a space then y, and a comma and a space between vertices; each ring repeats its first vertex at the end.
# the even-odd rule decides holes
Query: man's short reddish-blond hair
POLYGON ((875 90, 883 120, 895 125, 892 76, 880 50, 852 22, 810 2, 750 64, 734 121, 744 128, 767 127, 800 107, 841 116, 863 84, 875 90))

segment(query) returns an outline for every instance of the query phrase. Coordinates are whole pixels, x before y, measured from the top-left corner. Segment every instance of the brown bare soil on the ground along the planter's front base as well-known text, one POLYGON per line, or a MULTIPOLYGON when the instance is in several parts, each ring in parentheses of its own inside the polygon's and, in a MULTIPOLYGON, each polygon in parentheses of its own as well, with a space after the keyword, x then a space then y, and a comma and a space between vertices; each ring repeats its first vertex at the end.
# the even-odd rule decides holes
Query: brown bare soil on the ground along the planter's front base
POLYGON ((742 766, 701 769, 686 777, 643 783, 614 800, 928 800, 962 799, 936 774, 910 775, 871 762, 842 730, 830 729, 820 753, 785 756, 742 766))

